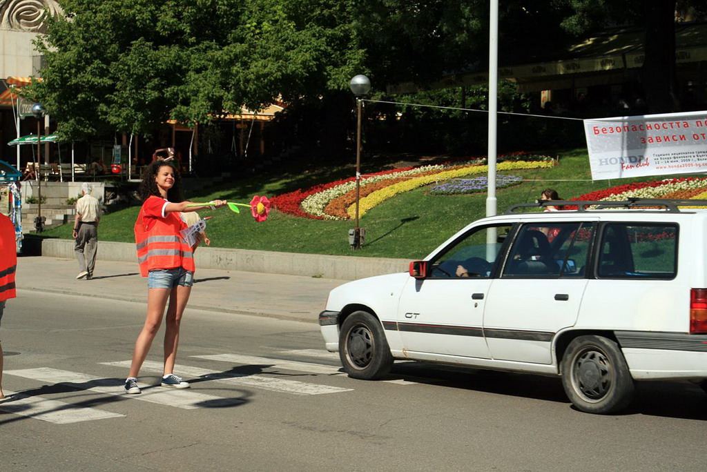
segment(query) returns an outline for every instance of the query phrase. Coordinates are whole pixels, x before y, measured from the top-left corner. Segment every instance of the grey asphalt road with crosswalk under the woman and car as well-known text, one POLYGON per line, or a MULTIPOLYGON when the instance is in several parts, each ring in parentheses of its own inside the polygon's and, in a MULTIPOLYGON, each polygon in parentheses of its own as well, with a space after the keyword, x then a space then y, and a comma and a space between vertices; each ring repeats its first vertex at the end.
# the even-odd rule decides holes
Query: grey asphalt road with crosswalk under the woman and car
MULTIPOLYGON (((616 416, 575 411, 559 379, 397 364, 339 372, 312 323, 187 309, 177 374, 122 394, 136 302, 30 293, 8 302, 0 471, 664 471, 707 466, 707 396, 641 384, 616 416)), ((161 338, 161 333, 160 333, 161 338)))

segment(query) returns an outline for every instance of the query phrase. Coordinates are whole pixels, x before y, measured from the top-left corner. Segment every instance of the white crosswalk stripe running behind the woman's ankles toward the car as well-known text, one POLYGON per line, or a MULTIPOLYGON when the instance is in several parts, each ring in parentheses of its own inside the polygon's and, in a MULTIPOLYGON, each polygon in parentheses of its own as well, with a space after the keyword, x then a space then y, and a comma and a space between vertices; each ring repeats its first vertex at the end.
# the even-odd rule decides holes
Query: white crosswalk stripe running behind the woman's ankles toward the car
MULTIPOLYGON (((130 361, 124 360, 120 362, 101 362, 105 365, 115 365, 119 367, 129 367, 130 361)), ((162 372, 163 365, 160 362, 146 360, 142 368, 150 371, 162 372)), ((214 372, 213 370, 201 369, 199 367, 190 367, 188 365, 175 365, 175 372, 180 375, 189 377, 202 377, 223 382, 231 385, 257 387, 269 391, 277 391, 286 394, 294 395, 321 395, 321 394, 338 394, 352 389, 342 389, 341 387, 328 387, 326 385, 309 384, 306 382, 297 382, 295 380, 273 379, 264 375, 246 375, 214 372)))

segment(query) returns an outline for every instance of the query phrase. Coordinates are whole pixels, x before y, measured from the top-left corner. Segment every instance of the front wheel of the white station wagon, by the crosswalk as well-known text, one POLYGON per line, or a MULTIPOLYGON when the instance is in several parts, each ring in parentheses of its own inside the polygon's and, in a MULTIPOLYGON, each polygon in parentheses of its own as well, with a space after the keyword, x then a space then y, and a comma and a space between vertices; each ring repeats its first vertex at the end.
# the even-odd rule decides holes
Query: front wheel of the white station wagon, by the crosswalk
POLYGON ((354 379, 375 380, 387 374, 393 357, 380 321, 362 311, 346 317, 339 333, 339 358, 354 379))

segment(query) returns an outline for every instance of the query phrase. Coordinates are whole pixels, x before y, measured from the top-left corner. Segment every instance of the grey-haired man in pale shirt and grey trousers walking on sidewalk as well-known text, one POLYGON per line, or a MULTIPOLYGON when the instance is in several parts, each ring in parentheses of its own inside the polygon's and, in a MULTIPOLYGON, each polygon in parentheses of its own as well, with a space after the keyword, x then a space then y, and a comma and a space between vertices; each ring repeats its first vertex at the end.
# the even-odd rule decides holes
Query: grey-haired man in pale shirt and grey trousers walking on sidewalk
POLYGON ((93 278, 95 254, 98 252, 98 222, 100 221, 100 206, 98 200, 91 196, 93 185, 83 182, 83 196, 76 201, 76 216, 74 217, 74 254, 78 259, 78 276, 76 278, 93 278), (86 249, 86 252, 84 252, 86 249))

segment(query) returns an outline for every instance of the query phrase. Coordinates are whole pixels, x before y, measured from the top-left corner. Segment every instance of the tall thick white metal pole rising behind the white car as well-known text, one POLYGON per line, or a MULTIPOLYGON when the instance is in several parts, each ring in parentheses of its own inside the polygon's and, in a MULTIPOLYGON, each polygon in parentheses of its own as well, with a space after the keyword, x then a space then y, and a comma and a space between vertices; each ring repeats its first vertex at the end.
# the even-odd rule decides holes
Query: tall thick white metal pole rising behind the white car
POLYGON ((489 19, 489 194, 486 216, 496 215, 496 134, 498 112, 498 0, 491 0, 489 19))

